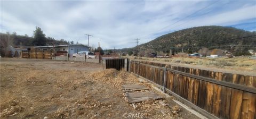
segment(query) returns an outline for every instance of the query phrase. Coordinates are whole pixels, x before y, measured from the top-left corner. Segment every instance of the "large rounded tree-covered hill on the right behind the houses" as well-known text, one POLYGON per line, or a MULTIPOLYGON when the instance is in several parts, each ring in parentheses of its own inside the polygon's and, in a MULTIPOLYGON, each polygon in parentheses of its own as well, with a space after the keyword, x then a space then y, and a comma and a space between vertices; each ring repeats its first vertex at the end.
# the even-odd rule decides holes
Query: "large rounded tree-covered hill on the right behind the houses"
MULTIPOLYGON (((183 29, 160 36, 138 46, 139 52, 196 52, 203 47, 209 49, 248 50, 256 47, 256 32, 233 27, 203 26, 183 29)), ((121 51, 128 53, 133 48, 121 51)))

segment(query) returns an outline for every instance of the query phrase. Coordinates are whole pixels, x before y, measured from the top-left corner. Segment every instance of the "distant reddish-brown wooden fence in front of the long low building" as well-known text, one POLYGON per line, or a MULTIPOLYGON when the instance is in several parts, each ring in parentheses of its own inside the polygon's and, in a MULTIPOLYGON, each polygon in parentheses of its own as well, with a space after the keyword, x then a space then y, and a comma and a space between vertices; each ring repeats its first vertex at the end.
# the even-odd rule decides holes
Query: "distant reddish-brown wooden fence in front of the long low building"
POLYGON ((45 58, 51 59, 53 53, 51 51, 33 51, 33 50, 22 50, 22 58, 45 58))

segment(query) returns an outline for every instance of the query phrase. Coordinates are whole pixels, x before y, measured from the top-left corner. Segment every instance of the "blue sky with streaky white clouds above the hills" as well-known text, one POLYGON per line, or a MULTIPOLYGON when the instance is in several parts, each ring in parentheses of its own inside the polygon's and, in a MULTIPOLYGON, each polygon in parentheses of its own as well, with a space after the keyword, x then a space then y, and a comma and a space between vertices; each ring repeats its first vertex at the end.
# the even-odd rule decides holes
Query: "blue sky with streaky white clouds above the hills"
POLYGON ((1 32, 124 48, 173 31, 222 25, 256 31, 256 1, 1 1, 1 32))

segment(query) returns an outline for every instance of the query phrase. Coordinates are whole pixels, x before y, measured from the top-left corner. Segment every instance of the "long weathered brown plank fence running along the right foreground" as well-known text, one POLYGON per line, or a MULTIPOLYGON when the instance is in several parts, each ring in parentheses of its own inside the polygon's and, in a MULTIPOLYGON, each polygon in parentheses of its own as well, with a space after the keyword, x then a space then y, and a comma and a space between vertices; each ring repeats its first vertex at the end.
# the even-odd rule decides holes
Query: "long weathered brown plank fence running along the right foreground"
POLYGON ((131 61, 130 71, 209 118, 256 118, 256 77, 131 61))

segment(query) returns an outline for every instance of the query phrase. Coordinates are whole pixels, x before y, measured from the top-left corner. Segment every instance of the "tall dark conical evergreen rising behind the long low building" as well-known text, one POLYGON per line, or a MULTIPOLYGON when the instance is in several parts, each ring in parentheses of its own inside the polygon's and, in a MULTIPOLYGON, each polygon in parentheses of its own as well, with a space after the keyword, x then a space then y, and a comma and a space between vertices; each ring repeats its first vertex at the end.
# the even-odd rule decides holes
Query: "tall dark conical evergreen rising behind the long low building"
POLYGON ((36 46, 44 46, 46 45, 46 37, 41 28, 36 27, 34 31, 34 41, 33 44, 36 46))

